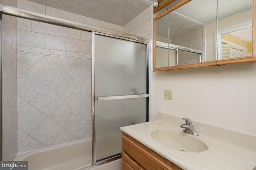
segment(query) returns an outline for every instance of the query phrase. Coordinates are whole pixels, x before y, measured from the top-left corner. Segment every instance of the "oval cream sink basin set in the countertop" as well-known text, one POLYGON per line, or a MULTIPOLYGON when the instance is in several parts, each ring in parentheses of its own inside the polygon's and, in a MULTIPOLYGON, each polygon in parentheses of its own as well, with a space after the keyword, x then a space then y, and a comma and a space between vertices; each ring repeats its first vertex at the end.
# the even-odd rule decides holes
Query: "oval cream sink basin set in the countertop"
POLYGON ((151 132, 151 136, 157 142, 183 152, 202 152, 208 150, 208 146, 200 139, 197 139, 197 136, 190 135, 183 131, 156 129, 151 132))

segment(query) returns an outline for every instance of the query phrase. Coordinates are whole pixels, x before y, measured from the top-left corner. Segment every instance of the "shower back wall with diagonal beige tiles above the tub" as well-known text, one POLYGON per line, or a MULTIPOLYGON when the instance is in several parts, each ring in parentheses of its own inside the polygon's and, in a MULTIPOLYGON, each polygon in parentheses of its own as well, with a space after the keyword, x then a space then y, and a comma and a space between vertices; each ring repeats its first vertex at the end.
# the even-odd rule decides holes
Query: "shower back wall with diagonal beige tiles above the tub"
POLYGON ((91 137, 91 33, 18 18, 18 152, 91 137))

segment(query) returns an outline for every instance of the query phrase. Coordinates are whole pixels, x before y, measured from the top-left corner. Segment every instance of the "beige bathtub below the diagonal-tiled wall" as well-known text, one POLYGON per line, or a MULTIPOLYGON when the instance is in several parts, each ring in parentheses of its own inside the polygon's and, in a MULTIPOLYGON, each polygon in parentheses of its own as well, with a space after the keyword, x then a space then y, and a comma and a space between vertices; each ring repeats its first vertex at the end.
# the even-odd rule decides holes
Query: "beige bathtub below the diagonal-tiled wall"
POLYGON ((76 170, 92 165, 92 139, 21 153, 15 160, 27 160, 28 170, 76 170))

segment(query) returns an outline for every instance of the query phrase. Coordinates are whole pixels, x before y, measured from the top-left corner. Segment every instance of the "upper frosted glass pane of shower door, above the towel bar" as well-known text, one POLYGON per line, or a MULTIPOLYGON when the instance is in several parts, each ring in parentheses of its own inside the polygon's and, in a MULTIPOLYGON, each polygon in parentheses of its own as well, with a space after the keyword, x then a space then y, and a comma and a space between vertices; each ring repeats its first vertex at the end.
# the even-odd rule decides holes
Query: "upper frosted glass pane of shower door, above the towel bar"
POLYGON ((146 53, 145 44, 96 34, 95 96, 146 94, 146 53))

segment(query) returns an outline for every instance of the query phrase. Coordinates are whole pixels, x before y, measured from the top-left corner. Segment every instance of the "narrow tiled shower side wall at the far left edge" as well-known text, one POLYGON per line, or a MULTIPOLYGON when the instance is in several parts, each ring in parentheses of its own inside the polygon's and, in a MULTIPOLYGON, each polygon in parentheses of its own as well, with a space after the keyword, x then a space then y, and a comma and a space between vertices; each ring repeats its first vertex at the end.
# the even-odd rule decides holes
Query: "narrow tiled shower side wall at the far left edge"
MULTIPOLYGON (((16 0, 0 0, 16 7, 16 0)), ((14 160, 17 144, 17 19, 2 16, 2 160, 14 160)))

